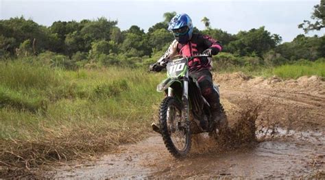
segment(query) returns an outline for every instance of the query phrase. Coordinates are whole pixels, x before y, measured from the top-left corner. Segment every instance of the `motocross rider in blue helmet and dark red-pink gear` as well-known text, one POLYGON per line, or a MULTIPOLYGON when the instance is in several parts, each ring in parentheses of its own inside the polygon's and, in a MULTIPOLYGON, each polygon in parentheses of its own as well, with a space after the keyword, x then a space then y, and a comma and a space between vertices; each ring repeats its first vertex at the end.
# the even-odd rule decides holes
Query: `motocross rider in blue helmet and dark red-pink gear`
MULTIPOLYGON (((165 55, 150 66, 150 70, 162 70, 167 65, 168 59, 175 55, 186 55, 187 57, 198 54, 208 55, 209 57, 195 58, 189 62, 189 75, 199 83, 202 95, 210 104, 212 119, 215 123, 219 123, 221 120, 221 116, 219 116, 221 107, 219 94, 213 88, 213 78, 210 73, 210 56, 217 55, 221 51, 222 46, 220 42, 210 36, 193 33, 192 20, 187 14, 176 14, 176 16, 171 18, 168 30, 173 31, 175 40, 170 44, 165 55)), ((201 122, 200 125, 204 129, 210 128, 206 122, 201 122)), ((157 130, 158 126, 156 123, 152 124, 154 130, 157 130)))

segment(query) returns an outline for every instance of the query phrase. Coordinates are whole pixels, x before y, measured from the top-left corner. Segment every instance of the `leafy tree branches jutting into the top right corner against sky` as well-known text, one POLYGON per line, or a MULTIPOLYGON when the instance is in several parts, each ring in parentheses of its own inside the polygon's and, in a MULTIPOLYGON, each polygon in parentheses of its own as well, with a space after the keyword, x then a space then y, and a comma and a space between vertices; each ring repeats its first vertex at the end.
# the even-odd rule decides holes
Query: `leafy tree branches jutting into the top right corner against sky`
POLYGON ((317 30, 325 27, 325 0, 321 0, 320 4, 314 6, 314 12, 311 19, 315 20, 315 23, 304 20, 304 23, 298 25, 298 28, 304 29, 305 33, 309 31, 317 30))

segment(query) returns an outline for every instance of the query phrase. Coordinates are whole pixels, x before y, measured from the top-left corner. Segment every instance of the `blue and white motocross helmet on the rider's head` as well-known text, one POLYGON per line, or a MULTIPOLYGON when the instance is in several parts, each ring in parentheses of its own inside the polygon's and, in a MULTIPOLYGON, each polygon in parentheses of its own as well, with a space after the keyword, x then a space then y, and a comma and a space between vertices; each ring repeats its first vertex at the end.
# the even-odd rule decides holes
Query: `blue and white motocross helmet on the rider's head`
POLYGON ((173 31, 173 36, 180 44, 185 44, 192 38, 193 24, 187 14, 176 14, 171 18, 168 26, 169 31, 173 31))

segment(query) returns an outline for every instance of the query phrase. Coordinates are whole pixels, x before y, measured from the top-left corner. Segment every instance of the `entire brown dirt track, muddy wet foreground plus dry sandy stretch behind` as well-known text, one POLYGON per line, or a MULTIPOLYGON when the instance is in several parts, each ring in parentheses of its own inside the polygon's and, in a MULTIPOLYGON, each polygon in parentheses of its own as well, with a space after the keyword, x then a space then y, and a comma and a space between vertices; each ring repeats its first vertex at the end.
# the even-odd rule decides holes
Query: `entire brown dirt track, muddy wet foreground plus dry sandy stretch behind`
MULTIPOLYGON (((215 75, 234 125, 241 110, 259 105, 258 141, 219 147, 204 134, 193 138, 188 158, 176 160, 162 138, 121 146, 121 152, 97 162, 62 166, 55 178, 173 178, 211 177, 325 178, 325 82, 318 77, 281 81, 250 78, 240 73, 215 75), (271 129, 271 130, 270 130, 271 129)), ((219 144, 220 145, 220 144, 219 144)))

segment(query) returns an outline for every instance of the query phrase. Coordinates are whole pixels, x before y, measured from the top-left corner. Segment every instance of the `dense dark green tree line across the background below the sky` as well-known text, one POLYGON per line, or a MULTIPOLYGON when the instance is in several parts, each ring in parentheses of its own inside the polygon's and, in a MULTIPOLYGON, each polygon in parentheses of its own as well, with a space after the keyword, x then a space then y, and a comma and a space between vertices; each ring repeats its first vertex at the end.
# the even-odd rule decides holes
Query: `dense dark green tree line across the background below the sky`
MULTIPOLYGON (((311 21, 304 21, 299 28, 306 32, 324 27, 324 0, 315 5, 311 21)), ((52 64, 67 68, 91 66, 90 64, 143 64, 153 62, 163 55, 173 40, 167 31, 168 22, 176 12, 166 12, 164 21, 149 27, 145 32, 136 25, 122 31, 117 21, 104 17, 97 20, 56 21, 45 27, 23 16, 0 21, 0 59, 36 55, 47 57, 52 64)), ((194 32, 208 34, 224 45, 224 52, 234 57, 256 57, 258 64, 280 65, 305 59, 315 61, 325 57, 325 36, 298 35, 292 42, 281 44, 282 38, 265 27, 229 34, 210 27, 194 32)), ((244 62, 250 63, 250 62, 244 62)))

